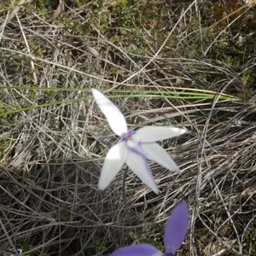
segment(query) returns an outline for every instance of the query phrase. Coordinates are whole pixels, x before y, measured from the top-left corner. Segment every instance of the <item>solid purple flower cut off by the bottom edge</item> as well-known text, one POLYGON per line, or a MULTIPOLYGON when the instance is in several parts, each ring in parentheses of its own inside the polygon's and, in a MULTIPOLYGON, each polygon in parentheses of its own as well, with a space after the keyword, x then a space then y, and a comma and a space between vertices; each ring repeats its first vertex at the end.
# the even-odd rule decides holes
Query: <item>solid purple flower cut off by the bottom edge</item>
POLYGON ((181 201, 173 210, 166 225, 165 247, 166 253, 161 253, 156 247, 148 243, 140 243, 128 247, 121 247, 111 256, 174 256, 181 247, 187 234, 189 225, 189 209, 185 201, 181 201))

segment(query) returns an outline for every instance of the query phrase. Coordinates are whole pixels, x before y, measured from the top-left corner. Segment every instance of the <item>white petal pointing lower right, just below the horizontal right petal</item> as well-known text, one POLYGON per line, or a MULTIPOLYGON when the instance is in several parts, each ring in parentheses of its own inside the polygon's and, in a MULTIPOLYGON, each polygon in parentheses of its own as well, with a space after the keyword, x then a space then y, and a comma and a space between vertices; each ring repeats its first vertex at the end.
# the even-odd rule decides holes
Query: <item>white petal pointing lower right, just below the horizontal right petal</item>
POLYGON ((164 166, 172 172, 180 172, 178 166, 174 160, 172 160, 171 155, 168 154, 158 143, 142 143, 141 145, 143 150, 148 154, 148 160, 153 160, 160 166, 164 166))

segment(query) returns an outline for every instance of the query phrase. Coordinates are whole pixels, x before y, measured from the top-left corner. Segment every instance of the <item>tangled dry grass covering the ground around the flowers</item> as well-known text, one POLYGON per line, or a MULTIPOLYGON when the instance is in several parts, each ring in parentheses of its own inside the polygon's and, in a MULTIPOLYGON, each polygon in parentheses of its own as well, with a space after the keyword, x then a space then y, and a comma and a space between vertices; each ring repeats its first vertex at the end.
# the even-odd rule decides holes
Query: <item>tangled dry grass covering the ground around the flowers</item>
POLYGON ((0 3, 0 255, 108 255, 135 241, 161 247, 166 218, 183 198, 189 232, 177 255, 256 253, 255 35, 237 28, 254 15, 253 3, 237 1, 236 15, 218 16, 221 26, 212 30, 217 16, 207 23, 204 15, 217 3, 85 2, 67 3, 55 21, 58 3, 0 3), (131 17, 136 10, 154 17, 121 20, 131 10, 131 17), (133 31, 137 20, 141 30, 133 31), (129 37, 122 39, 123 29, 129 37), (117 138, 88 98, 92 87, 130 91, 113 99, 130 127, 189 130, 161 143, 180 176, 150 162, 160 195, 128 172, 125 207, 123 171, 98 191, 102 160, 117 138), (216 96, 136 97, 176 87, 216 96))

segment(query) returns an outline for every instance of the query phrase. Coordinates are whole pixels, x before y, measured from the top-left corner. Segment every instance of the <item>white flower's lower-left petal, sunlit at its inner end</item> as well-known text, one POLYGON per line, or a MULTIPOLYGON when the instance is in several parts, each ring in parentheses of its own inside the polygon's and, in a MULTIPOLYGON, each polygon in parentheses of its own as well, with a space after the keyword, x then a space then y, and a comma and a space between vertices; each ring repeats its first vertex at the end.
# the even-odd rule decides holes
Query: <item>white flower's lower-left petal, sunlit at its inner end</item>
POLYGON ((102 166, 102 172, 99 179, 98 188, 100 190, 106 189, 117 175, 119 170, 125 164, 126 156, 128 154, 128 148, 125 145, 125 141, 115 144, 109 149, 108 154, 104 160, 102 166))

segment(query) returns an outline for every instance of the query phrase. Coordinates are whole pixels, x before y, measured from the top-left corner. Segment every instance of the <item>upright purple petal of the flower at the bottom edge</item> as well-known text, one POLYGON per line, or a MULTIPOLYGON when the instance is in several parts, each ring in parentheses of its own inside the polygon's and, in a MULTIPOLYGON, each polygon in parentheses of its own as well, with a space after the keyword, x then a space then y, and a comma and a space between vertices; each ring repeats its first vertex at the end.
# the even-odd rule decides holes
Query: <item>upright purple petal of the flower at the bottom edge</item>
POLYGON ((189 225, 189 209, 185 201, 174 208, 167 221, 165 232, 166 253, 175 253, 181 247, 189 225))

